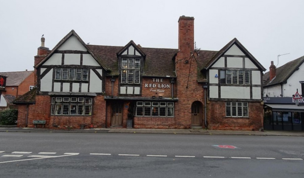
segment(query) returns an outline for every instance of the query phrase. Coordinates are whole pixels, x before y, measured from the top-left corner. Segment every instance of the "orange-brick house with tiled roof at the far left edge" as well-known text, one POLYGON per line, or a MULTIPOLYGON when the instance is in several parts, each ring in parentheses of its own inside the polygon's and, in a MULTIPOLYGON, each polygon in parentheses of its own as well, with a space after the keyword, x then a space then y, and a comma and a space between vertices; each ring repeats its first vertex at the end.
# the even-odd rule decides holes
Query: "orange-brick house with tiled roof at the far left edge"
POLYGON ((12 101, 34 87, 34 71, 0 72, 6 76, 5 90, 1 90, 0 110, 16 108, 12 101))

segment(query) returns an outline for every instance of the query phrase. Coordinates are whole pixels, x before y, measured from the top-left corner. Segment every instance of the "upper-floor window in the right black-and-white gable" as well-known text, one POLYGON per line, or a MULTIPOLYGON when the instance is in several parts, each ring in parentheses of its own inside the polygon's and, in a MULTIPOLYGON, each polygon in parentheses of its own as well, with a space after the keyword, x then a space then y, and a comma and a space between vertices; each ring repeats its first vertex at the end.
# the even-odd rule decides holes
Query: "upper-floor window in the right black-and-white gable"
POLYGON ((221 70, 221 84, 249 84, 248 70, 221 70))

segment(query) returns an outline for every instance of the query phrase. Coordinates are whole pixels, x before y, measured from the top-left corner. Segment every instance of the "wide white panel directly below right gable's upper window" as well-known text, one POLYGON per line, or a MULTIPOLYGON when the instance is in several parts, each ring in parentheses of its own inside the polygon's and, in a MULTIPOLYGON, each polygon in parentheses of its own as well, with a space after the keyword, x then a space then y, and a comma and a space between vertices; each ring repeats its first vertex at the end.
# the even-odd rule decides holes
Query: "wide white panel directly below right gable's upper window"
POLYGON ((250 99, 250 87, 221 86, 221 98, 250 99))

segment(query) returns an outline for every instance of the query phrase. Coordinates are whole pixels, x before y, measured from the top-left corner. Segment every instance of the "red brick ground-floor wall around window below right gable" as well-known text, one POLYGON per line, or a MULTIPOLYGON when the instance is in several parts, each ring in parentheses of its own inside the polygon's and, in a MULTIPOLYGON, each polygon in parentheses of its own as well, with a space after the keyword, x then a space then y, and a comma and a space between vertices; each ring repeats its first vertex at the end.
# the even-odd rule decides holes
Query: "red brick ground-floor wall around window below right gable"
POLYGON ((263 128, 263 105, 248 102, 249 118, 226 117, 226 101, 210 101, 207 104, 207 122, 211 130, 259 130, 263 128))

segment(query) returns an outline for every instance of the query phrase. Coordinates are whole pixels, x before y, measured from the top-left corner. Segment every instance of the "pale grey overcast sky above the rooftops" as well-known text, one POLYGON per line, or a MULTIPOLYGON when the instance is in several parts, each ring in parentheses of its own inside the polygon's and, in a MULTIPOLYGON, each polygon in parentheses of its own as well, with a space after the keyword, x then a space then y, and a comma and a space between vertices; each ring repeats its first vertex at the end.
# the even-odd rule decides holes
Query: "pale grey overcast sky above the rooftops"
POLYGON ((42 34, 53 47, 74 29, 85 43, 178 48, 178 18, 193 16, 202 50, 236 37, 269 70, 304 55, 304 1, 0 0, 1 72, 33 70, 42 34))

